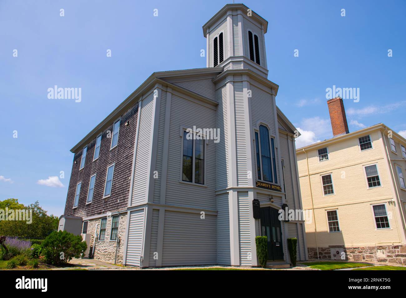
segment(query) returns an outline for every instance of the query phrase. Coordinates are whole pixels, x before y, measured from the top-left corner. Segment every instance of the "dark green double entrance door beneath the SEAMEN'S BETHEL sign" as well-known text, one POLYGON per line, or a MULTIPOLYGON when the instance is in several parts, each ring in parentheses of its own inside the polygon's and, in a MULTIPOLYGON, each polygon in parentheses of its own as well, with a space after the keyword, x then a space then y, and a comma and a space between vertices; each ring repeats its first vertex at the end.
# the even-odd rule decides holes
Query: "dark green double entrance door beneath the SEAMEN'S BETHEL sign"
POLYGON ((268 260, 283 260, 282 229, 278 210, 263 207, 261 211, 261 235, 267 236, 268 260))

